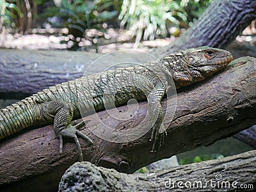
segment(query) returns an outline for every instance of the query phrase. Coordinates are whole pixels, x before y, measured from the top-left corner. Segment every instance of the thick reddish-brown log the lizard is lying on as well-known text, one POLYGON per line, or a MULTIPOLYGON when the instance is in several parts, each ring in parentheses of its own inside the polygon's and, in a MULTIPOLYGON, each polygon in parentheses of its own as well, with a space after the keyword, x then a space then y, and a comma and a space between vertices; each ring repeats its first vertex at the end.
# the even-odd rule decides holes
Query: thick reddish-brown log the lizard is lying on
MULTIPOLYGON (((94 142, 89 147, 79 139, 84 160, 106 168, 115 168, 120 172, 132 173, 159 159, 211 145, 214 141, 252 126, 256 123, 256 59, 246 57, 232 63, 233 65, 216 76, 179 91, 175 116, 173 120, 165 119, 165 124, 169 126, 164 146, 159 152, 150 152, 151 131, 129 143, 111 143, 101 140, 90 129, 83 129, 94 142)), ((172 99, 168 101, 169 104, 175 102, 172 99)), ((164 109, 166 105, 164 99, 164 109)), ((127 107, 120 107, 118 111, 125 112, 127 107)), ((147 102, 141 102, 137 115, 125 122, 114 121, 106 111, 97 115, 104 124, 114 129, 131 129, 131 134, 134 134, 132 127, 139 124, 146 113, 147 102)), ((86 123, 87 127, 99 126, 95 116, 88 116, 86 119, 90 120, 86 123)), ((36 189, 49 191, 47 187, 50 186, 47 183, 58 183, 65 169, 78 157, 76 145, 72 142, 65 143, 62 155, 58 151, 59 141, 52 125, 2 141, 1 189, 11 190, 19 186, 19 189, 24 187, 28 191, 30 187, 33 191, 36 186, 36 189)))

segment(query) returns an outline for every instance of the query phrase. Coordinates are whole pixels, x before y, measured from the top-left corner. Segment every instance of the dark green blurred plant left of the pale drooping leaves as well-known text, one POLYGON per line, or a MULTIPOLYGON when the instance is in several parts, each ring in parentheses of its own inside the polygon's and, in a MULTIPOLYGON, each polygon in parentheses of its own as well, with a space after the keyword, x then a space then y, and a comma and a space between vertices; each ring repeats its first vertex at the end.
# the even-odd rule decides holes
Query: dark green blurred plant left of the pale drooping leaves
POLYGON ((60 7, 52 6, 40 17, 53 17, 58 13, 58 16, 64 22, 62 24, 52 22, 53 26, 61 26, 68 28, 70 31, 76 31, 74 36, 83 36, 85 29, 99 29, 102 28, 103 22, 115 19, 118 15, 118 10, 115 10, 115 8, 120 3, 120 0, 62 0, 60 7))

